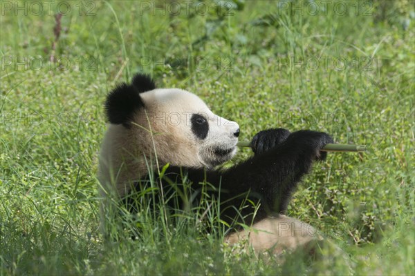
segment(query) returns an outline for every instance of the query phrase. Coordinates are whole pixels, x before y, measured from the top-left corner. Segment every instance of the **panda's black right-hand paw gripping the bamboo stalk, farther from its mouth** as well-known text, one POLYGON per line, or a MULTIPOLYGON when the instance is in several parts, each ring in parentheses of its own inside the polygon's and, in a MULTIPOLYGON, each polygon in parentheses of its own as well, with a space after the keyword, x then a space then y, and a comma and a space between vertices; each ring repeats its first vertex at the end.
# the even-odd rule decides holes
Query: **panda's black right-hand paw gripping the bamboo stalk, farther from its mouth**
POLYGON ((303 152, 311 155, 312 160, 324 161, 327 152, 321 151, 326 144, 334 143, 333 138, 326 132, 317 132, 312 130, 299 130, 293 132, 287 139, 290 147, 302 148, 303 152))

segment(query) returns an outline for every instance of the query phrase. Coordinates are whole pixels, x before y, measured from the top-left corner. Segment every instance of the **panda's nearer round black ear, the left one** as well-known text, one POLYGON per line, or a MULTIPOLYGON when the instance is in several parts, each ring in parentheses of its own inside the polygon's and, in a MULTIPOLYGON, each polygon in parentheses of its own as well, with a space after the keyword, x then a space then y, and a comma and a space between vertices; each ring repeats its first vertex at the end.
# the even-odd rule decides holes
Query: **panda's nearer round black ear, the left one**
POLYGON ((144 102, 135 86, 122 83, 107 96, 105 110, 111 124, 122 124, 129 128, 130 121, 136 110, 143 108, 144 102))

